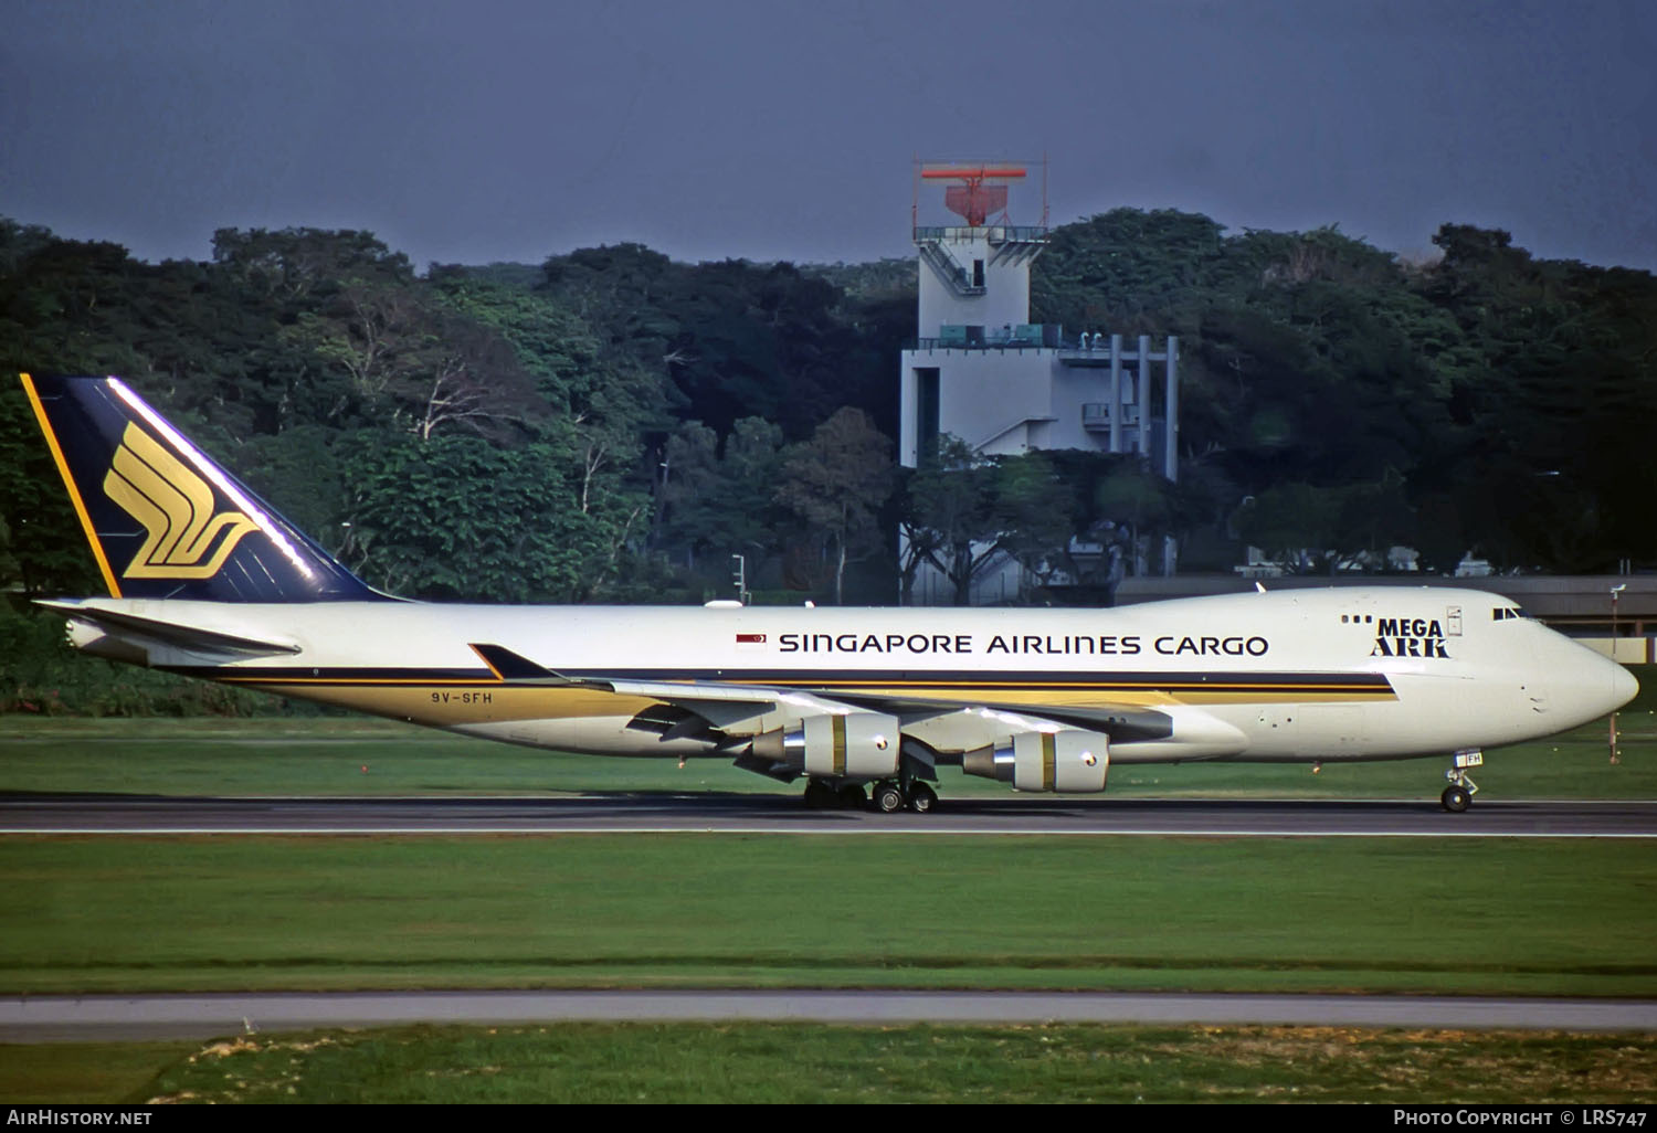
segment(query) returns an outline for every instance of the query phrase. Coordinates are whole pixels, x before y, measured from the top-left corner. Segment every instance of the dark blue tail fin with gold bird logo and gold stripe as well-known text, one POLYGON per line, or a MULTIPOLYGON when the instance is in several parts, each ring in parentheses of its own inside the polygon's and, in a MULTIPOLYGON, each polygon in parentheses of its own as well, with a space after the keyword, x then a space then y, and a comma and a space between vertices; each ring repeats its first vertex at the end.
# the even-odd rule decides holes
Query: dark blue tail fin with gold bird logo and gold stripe
POLYGON ((51 456, 114 598, 386 598, 336 563, 119 378, 30 378, 51 456))

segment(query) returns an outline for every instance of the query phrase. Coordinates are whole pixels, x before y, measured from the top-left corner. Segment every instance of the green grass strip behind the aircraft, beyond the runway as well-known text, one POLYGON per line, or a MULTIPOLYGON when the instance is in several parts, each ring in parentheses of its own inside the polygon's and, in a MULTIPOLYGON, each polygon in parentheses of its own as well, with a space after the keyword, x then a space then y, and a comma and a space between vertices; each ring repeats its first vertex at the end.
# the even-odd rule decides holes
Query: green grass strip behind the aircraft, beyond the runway
MULTIPOLYGON (((1657 677, 1652 677, 1657 686, 1657 677)), ((1621 762, 1604 722, 1493 749, 1481 798, 1657 798, 1657 716, 1621 716, 1621 762)), ((1117 765, 1109 792, 1143 798, 1423 798, 1442 760, 1307 765, 1117 765)), ((1007 797, 1004 783, 940 769, 940 795, 1007 797)), ((542 752, 389 721, 0 717, 0 792, 143 795, 421 795, 742 792, 797 795, 729 760, 600 759, 542 752)))

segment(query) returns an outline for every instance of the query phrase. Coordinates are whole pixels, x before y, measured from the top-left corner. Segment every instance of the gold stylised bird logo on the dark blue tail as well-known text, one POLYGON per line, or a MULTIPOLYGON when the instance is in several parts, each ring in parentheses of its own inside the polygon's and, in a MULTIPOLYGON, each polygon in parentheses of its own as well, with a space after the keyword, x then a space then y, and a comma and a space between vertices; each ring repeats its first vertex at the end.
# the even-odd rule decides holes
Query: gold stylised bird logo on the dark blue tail
POLYGON ((109 462, 104 495, 147 532, 124 578, 212 578, 255 530, 242 512, 214 515, 212 485, 133 422, 109 462))

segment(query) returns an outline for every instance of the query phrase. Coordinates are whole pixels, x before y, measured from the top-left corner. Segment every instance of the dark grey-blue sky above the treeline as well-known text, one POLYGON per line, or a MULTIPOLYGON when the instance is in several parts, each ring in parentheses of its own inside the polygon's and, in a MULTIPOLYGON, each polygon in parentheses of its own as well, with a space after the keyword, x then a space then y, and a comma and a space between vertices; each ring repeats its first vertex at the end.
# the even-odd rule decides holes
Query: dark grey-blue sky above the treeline
POLYGON ((1657 3, 0 0, 0 215, 152 260, 225 225, 906 257, 916 154, 1044 152, 1054 224, 1420 255, 1453 220, 1657 268, 1657 3))

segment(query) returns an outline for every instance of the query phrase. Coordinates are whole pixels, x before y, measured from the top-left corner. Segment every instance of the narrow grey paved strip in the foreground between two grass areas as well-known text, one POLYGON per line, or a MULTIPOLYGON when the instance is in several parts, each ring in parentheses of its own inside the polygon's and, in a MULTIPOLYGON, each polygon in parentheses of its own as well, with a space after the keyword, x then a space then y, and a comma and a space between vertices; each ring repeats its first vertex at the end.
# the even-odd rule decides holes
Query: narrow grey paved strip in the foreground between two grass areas
POLYGON ((1453 996, 1114 992, 567 991, 30 996, 0 1000, 0 1042, 212 1039, 404 1024, 784 1020, 1654 1030, 1657 1002, 1453 996))

